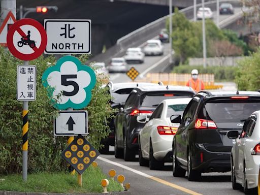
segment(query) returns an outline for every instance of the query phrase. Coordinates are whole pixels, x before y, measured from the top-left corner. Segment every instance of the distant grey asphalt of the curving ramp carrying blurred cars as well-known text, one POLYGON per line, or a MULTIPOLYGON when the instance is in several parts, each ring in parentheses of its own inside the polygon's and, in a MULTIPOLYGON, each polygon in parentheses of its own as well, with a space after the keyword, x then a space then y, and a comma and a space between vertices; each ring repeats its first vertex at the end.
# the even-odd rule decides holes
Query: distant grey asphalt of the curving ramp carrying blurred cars
MULTIPOLYGON (((235 14, 241 11, 241 8, 234 8, 235 14)), ((216 12, 213 12, 213 20, 216 22, 216 12)), ((232 15, 220 15, 219 21, 222 21, 232 15)), ((142 47, 142 44, 140 47, 142 47)), ((164 72, 166 68, 168 68, 169 57, 170 57, 170 44, 164 43, 164 55, 163 56, 145 56, 145 61, 142 64, 132 63, 128 64, 128 68, 135 67, 140 75, 139 78, 145 76, 147 73, 158 73, 164 72)), ((118 56, 122 57, 122 56, 118 56)), ((132 80, 126 76, 124 73, 113 73, 110 74, 110 81, 118 83, 118 82, 131 82, 132 80)))

